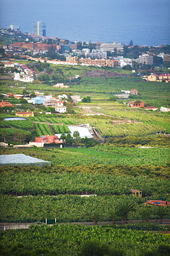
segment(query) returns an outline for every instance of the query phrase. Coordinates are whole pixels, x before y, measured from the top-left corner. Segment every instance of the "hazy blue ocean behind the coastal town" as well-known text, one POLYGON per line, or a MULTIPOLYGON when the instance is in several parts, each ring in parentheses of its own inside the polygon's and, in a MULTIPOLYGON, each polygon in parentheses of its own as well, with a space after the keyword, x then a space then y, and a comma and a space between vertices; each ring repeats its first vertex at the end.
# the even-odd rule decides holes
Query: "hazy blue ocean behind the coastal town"
POLYGON ((46 34, 72 41, 170 44, 170 0, 0 0, 0 26, 21 26, 32 33, 34 21, 46 34))

